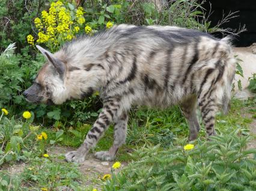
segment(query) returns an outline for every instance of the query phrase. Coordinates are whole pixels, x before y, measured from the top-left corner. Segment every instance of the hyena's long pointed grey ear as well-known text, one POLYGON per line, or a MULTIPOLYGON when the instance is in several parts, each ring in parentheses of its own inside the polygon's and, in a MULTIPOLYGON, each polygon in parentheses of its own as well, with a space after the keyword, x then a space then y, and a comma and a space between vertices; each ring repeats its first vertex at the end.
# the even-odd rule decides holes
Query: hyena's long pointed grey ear
POLYGON ((36 47, 38 48, 38 50, 41 51, 42 54, 44 54, 44 56, 49 60, 49 62, 52 63, 52 65, 56 68, 56 71, 62 77, 65 74, 65 71, 66 71, 66 67, 65 67, 64 63, 61 62, 61 60, 56 59, 53 56, 53 54, 50 53, 48 50, 45 50, 44 48, 42 48, 38 45, 36 47))

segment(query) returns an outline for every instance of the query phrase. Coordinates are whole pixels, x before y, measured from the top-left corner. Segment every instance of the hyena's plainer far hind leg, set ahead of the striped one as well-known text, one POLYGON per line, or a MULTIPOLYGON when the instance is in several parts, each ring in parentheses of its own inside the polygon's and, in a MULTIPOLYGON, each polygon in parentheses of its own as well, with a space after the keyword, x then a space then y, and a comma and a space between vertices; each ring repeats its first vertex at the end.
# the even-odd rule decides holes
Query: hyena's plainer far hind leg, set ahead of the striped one
POLYGON ((180 104, 181 111, 189 125, 189 141, 197 138, 200 124, 197 116, 197 95, 191 95, 180 104))

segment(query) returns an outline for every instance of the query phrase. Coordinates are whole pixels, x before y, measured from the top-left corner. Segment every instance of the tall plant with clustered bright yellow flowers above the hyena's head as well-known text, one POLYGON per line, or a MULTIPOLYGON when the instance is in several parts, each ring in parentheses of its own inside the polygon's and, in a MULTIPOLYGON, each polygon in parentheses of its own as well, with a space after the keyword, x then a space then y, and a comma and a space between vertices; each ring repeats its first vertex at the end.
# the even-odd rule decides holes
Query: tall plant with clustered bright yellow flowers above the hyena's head
MULTIPOLYGON (((34 19, 38 31, 37 40, 32 35, 28 35, 28 43, 32 46, 35 42, 45 43, 51 51, 56 51, 62 43, 72 40, 81 29, 85 28, 84 13, 82 7, 75 9, 69 4, 67 8, 61 1, 52 2, 49 11, 41 11, 41 16, 34 19)), ((87 31, 90 34, 92 30, 87 29, 87 31)))

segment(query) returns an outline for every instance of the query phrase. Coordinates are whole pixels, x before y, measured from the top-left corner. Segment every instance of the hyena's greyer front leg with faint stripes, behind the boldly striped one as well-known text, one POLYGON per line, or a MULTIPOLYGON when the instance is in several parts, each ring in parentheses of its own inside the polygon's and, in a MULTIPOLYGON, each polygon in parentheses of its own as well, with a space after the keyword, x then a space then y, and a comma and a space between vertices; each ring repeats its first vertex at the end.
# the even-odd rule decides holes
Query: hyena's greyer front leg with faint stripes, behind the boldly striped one
POLYGON ((114 160, 115 154, 119 147, 126 141, 128 115, 126 111, 114 117, 114 143, 108 151, 99 151, 95 157, 100 160, 114 160))

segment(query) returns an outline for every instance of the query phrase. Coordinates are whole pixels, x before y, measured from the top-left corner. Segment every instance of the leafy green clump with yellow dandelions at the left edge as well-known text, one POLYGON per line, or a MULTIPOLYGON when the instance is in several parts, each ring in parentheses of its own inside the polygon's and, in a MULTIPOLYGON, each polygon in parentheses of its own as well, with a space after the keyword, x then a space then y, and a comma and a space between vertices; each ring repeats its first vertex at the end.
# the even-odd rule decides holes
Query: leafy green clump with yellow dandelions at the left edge
POLYGON ((25 122, 17 122, 14 116, 8 119, 7 114, 10 115, 7 110, 2 110, 0 117, 0 165, 11 160, 25 160, 31 156, 31 151, 35 156, 43 156, 47 134, 38 134, 39 126, 31 125, 34 114, 25 111, 25 122))

